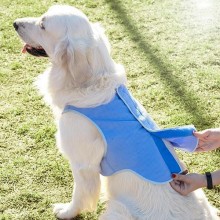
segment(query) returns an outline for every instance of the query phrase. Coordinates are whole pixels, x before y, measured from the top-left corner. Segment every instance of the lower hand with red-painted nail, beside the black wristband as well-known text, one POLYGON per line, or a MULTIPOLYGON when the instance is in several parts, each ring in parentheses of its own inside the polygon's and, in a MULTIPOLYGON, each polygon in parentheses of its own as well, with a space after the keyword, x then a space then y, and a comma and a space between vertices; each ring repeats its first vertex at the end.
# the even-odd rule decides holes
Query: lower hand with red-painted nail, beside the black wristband
POLYGON ((171 187, 183 196, 186 196, 190 192, 207 185, 206 177, 202 174, 172 174, 172 178, 173 181, 170 182, 171 187))

